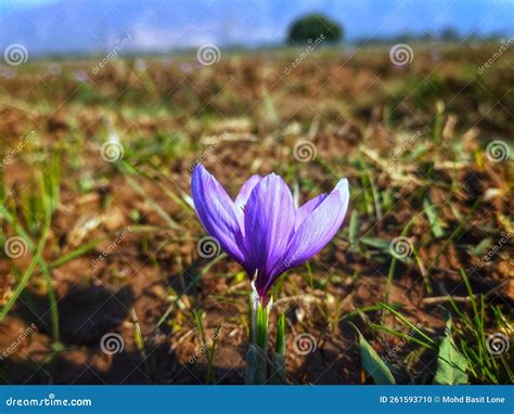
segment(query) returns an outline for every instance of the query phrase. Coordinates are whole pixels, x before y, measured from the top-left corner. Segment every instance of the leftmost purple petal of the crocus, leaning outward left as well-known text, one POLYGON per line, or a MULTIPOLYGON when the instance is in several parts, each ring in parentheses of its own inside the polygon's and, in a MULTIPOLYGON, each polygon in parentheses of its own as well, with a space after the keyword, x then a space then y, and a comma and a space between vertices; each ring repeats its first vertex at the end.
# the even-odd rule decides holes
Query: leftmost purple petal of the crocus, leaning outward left
POLYGON ((216 237, 223 250, 240 263, 244 255, 242 233, 235 215, 235 205, 218 181, 197 165, 191 179, 194 208, 206 232, 216 237))

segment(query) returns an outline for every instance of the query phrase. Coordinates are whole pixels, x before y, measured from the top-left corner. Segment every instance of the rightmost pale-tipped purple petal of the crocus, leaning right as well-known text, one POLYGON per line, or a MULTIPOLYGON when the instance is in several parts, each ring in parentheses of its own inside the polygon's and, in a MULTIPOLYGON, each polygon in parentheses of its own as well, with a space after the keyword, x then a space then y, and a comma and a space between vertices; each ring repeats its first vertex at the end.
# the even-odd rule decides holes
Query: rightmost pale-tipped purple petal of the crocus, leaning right
POLYGON ((318 254, 337 233, 348 209, 348 180, 340 180, 330 195, 304 220, 291 240, 280 274, 318 254))

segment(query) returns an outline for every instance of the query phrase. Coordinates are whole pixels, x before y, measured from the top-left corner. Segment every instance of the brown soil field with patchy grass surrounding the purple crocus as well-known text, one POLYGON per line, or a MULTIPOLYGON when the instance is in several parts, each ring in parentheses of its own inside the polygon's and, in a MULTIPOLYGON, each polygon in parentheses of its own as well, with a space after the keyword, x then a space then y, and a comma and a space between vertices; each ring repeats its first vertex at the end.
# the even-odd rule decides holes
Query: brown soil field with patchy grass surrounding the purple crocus
POLYGON ((512 384, 514 52, 410 48, 2 65, 1 380, 244 383, 249 279, 198 253, 201 161, 231 195, 350 182, 336 237, 272 288, 291 384, 373 383, 349 322, 399 384, 434 381, 442 338, 470 383, 512 384))

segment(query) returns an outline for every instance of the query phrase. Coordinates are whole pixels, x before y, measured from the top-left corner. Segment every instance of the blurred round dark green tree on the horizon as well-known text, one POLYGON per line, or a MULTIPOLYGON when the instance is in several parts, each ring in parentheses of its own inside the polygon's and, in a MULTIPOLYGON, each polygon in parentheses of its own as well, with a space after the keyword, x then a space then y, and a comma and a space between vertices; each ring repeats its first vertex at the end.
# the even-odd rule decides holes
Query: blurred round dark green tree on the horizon
POLYGON ((323 40, 336 43, 343 39, 343 27, 323 14, 312 13, 297 18, 290 26, 287 42, 292 44, 314 41, 323 35, 323 40))

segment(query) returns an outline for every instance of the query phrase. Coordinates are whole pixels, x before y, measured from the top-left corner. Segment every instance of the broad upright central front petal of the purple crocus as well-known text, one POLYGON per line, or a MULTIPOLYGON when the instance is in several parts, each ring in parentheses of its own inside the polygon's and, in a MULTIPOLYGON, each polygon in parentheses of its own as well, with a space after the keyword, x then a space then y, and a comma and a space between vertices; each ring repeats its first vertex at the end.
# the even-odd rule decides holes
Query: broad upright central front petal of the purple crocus
POLYGON ((283 261, 294 225, 295 206, 290 189, 274 173, 265 177, 252 192, 244 214, 244 267, 250 275, 258 271, 259 294, 272 276, 272 269, 283 261))

